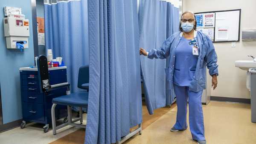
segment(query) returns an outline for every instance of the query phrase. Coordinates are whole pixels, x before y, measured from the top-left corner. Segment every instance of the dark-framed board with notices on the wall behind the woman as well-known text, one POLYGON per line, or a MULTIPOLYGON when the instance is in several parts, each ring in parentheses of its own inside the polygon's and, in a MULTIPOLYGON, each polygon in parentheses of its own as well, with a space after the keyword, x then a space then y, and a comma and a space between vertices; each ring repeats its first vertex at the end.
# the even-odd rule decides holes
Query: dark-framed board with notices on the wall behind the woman
POLYGON ((195 13, 198 31, 212 42, 239 42, 241 9, 195 13))

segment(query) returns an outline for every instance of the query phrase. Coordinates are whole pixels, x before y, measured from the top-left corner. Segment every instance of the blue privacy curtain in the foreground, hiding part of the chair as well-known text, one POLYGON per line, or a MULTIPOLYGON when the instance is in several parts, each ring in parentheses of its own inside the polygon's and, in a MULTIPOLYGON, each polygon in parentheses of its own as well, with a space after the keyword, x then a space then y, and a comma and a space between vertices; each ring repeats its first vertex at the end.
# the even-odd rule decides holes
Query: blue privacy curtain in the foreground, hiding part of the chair
POLYGON ((142 121, 137 0, 88 0, 86 144, 110 144, 142 121))

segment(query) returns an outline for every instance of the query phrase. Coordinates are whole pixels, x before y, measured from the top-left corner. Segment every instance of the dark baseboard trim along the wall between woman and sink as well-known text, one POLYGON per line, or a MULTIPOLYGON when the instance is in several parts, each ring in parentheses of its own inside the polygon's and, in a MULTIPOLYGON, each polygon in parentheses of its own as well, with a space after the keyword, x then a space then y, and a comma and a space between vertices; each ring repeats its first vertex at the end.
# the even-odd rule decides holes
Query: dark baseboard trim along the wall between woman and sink
POLYGON ((212 101, 220 101, 220 102, 237 102, 237 103, 250 104, 250 99, 242 99, 242 98, 211 96, 211 100, 212 101))

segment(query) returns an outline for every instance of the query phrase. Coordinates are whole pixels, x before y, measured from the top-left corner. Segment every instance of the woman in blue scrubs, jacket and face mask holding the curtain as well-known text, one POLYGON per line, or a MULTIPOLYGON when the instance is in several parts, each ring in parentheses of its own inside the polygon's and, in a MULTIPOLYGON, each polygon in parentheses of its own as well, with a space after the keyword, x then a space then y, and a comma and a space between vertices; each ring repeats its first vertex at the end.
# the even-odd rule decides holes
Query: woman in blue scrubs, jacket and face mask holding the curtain
POLYGON ((169 37, 160 49, 145 51, 140 54, 149 59, 169 59, 166 68, 166 82, 169 90, 174 90, 177 97, 177 119, 172 132, 187 129, 186 113, 189 101, 189 126, 193 140, 206 144, 204 137, 204 118, 201 104, 202 92, 206 85, 206 66, 212 76, 212 87, 217 87, 218 64, 212 40, 196 31, 195 14, 186 11, 180 20, 180 32, 169 37))

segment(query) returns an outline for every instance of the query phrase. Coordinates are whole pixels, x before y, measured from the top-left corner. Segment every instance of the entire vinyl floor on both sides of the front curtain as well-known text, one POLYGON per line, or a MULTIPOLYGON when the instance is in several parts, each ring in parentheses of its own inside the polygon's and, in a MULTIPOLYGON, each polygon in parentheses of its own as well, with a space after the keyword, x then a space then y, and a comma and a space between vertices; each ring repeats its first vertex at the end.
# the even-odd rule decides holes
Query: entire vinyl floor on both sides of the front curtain
MULTIPOLYGON (((203 105, 203 110, 207 144, 256 144, 256 123, 250 121, 249 104, 210 102, 208 105, 203 105)), ((143 113, 145 112, 147 111, 143 106, 143 113)), ((182 132, 170 132, 175 124, 176 112, 175 105, 167 109, 165 114, 148 123, 142 135, 132 137, 125 144, 197 144, 192 140, 189 128, 182 132)), ((158 110, 157 113, 163 112, 158 110)), ((155 119, 144 118, 144 115, 144 120, 155 119)), ((189 125, 189 121, 187 122, 189 125)), ((71 128, 52 136, 52 130, 43 133, 42 129, 37 127, 27 127, 22 130, 17 127, 0 133, 0 144, 48 144, 53 141, 58 143, 58 139, 62 139, 59 141, 62 144, 83 144, 84 130, 71 128), (76 141, 65 138, 70 133, 79 135, 76 136, 76 141)))

